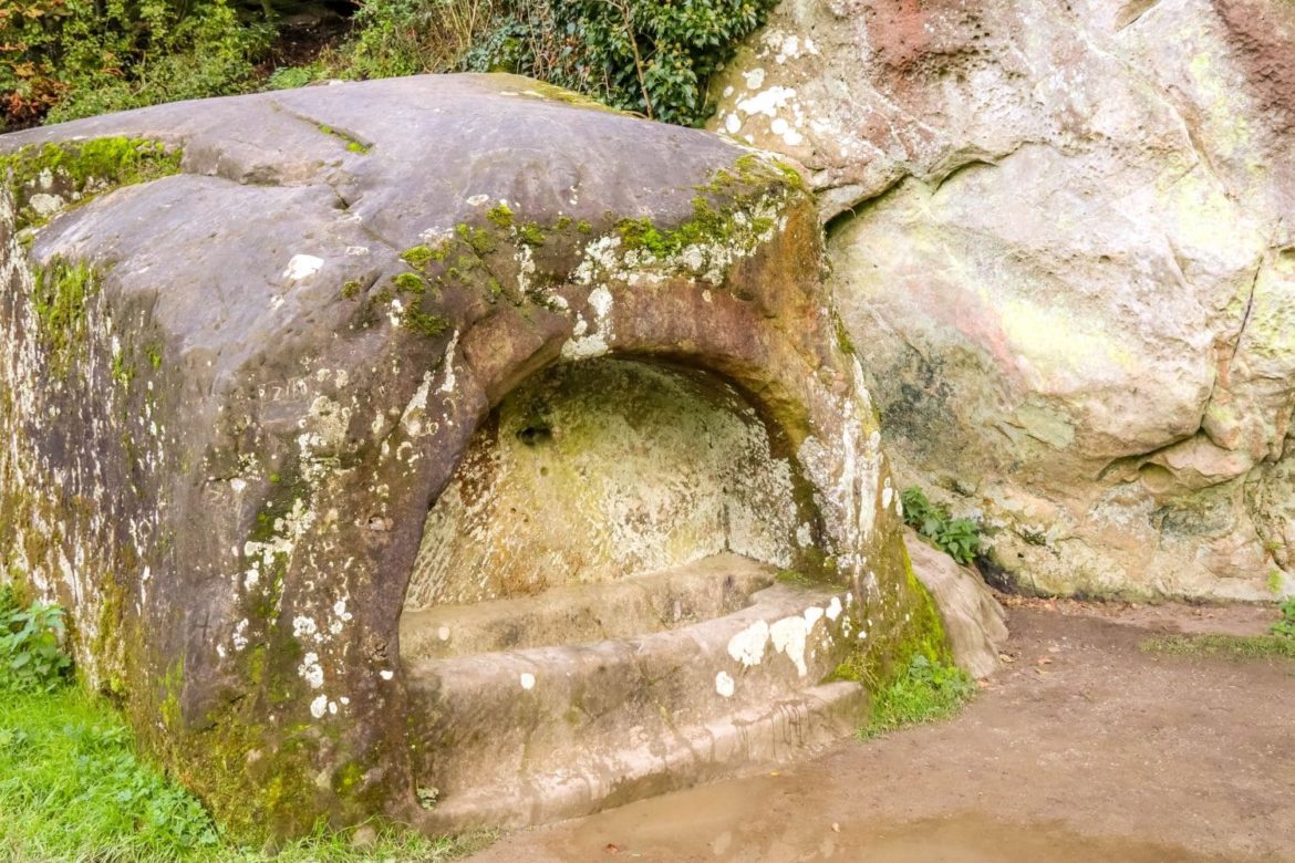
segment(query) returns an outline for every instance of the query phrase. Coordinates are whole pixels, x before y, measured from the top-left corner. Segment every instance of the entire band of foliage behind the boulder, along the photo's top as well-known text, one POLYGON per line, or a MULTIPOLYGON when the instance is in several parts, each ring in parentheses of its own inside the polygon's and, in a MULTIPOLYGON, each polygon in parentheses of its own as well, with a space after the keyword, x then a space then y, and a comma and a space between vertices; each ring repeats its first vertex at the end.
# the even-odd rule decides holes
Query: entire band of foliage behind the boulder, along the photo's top
POLYGON ((518 72, 699 126, 710 76, 776 3, 5 0, 0 131, 328 78, 448 71, 518 72), (324 21, 344 26, 285 62, 282 41, 324 21))

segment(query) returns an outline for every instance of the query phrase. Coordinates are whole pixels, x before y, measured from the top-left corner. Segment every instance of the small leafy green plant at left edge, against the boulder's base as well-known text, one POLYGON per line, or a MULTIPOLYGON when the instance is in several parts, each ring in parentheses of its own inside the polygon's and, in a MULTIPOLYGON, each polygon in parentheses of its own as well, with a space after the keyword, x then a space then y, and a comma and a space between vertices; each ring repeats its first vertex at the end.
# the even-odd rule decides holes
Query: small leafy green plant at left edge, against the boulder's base
POLYGON ((35 602, 23 608, 0 587, 0 691, 52 692, 67 679, 63 609, 35 602))

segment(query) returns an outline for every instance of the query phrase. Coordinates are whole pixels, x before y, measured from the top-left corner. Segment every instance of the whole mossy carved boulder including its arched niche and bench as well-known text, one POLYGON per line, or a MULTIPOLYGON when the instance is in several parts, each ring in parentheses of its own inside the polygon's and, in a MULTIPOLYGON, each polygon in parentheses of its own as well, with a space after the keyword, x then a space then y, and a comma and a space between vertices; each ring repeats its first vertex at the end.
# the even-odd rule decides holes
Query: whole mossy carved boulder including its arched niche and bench
POLYGON ((799 176, 571 98, 0 138, 5 572, 234 828, 588 811, 940 646, 799 176))

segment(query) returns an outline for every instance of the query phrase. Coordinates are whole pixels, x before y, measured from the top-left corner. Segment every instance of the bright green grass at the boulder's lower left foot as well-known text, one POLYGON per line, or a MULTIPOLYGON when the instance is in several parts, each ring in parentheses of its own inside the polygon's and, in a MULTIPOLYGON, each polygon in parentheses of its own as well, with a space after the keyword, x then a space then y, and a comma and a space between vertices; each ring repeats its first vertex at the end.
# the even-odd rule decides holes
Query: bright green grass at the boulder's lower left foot
POLYGON ((488 835, 429 840, 379 831, 359 850, 319 831, 277 854, 225 841, 201 803, 136 753, 130 728, 102 699, 67 684, 0 696, 0 859, 12 863, 440 863, 479 850, 488 835))

